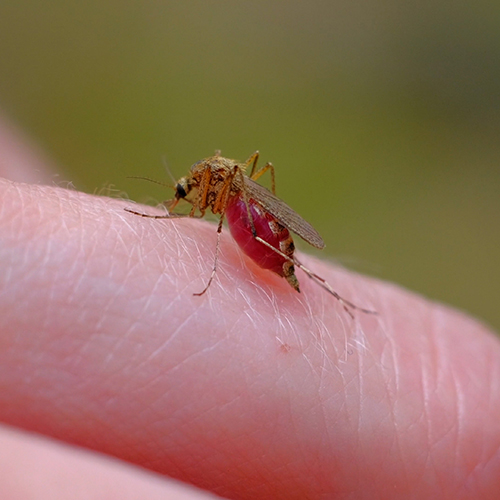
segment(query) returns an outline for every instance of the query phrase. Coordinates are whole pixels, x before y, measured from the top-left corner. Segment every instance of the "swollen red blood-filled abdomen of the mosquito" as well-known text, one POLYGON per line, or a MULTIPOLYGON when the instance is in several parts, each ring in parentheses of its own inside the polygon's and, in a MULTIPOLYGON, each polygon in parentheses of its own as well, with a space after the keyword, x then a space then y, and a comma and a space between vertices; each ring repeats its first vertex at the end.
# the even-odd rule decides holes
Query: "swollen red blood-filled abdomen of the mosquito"
MULTIPOLYGON (((285 229, 277 235, 269 226, 269 222, 276 221, 276 219, 256 205, 252 199, 248 200, 248 206, 257 235, 274 248, 279 249, 280 241, 286 240, 290 234, 288 230, 285 229)), ((231 235, 243 252, 258 266, 283 276, 283 264, 286 260, 254 238, 248 220, 247 207, 241 196, 235 196, 230 200, 225 214, 231 235)))

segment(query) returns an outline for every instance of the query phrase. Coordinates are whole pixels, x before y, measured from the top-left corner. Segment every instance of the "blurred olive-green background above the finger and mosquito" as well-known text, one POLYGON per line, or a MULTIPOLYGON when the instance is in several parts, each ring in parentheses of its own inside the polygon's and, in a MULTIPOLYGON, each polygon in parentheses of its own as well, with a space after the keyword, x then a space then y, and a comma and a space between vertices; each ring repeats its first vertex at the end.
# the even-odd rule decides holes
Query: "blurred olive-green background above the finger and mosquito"
POLYGON ((3 0, 0 107, 138 201, 259 149, 325 256, 500 328, 500 3, 3 0))

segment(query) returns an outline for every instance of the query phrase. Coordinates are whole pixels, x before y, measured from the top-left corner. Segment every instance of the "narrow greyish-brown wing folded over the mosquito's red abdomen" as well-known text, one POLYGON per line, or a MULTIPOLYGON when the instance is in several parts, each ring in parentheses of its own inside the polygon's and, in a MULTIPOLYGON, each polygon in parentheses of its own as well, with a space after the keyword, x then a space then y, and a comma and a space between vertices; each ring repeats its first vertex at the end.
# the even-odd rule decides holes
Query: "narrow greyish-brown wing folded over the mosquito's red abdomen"
POLYGON ((324 248, 325 242, 318 231, 316 231, 309 222, 306 222, 297 212, 292 210, 284 201, 274 196, 271 191, 257 184, 249 177, 245 177, 245 190, 248 198, 252 198, 262 205, 285 227, 298 234, 313 247, 324 248))

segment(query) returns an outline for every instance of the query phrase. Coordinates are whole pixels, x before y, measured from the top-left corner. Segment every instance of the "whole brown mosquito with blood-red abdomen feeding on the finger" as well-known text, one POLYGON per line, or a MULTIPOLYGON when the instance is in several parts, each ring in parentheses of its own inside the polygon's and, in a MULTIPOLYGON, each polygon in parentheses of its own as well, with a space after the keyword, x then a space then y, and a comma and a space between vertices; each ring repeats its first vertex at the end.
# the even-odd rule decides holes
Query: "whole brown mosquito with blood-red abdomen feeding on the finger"
MULTIPOLYGON (((202 218, 207 208, 220 215, 212 273, 205 288, 194 295, 203 295, 215 277, 222 224, 226 218, 229 230, 243 252, 260 267, 284 277, 297 292, 300 292, 300 287, 295 267, 302 269, 309 278, 333 295, 351 318, 354 316, 348 308, 366 314, 377 314, 376 311, 356 306, 341 297, 323 278, 298 261, 289 230, 313 247, 322 249, 325 243, 311 224, 275 195, 274 167, 271 163, 266 163, 257 169, 258 159, 258 151, 244 163, 224 158, 220 151, 216 151, 214 156, 195 163, 188 175, 175 182, 174 198, 163 202, 167 210, 165 215, 149 215, 128 208, 125 210, 151 219, 202 218), (249 167, 250 175, 247 175, 249 167), (267 171, 271 174, 272 192, 256 182, 267 171), (172 212, 181 200, 192 205, 188 214, 172 212)), ((147 177, 134 178, 163 184, 147 177)))

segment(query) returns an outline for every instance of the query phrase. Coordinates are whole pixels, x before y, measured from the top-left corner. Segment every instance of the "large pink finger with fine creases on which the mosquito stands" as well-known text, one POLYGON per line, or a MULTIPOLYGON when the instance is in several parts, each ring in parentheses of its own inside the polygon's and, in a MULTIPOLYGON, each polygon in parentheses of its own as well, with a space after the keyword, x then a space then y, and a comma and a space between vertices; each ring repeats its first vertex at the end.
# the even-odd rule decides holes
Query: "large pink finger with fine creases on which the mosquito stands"
MULTIPOLYGON (((25 444, 45 443, 8 426, 227 498, 498 498, 500 343, 487 327, 301 254, 378 312, 351 319, 301 271, 298 294, 258 268, 227 231, 194 296, 214 225, 125 207, 0 180, 0 442, 21 439, 19 477, 33 470, 25 444)), ((82 453, 46 446, 56 464, 82 453)), ((104 477, 117 467, 85 457, 104 477)), ((96 477, 78 463, 75 491, 96 477)), ((149 476, 124 470, 145 495, 149 476)))

